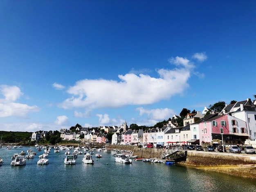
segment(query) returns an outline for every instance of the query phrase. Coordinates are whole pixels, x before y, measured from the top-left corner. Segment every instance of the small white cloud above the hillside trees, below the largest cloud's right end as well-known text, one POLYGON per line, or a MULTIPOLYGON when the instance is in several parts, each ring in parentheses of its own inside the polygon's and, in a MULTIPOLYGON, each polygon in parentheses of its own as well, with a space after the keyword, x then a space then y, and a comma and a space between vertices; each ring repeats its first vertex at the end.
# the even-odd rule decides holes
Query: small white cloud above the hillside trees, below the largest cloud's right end
POLYGON ((174 114, 173 109, 168 109, 168 108, 144 109, 143 107, 138 107, 136 110, 139 111, 140 116, 146 114, 148 118, 150 118, 150 120, 152 121, 163 120, 163 119, 168 120, 168 118, 171 118, 174 114))

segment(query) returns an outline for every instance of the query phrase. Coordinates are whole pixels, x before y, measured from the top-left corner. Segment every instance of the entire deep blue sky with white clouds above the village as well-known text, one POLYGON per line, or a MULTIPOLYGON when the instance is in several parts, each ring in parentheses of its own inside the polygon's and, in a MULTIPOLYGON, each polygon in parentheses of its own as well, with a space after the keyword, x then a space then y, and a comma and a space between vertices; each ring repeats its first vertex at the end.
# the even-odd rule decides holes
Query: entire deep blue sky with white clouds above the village
POLYGON ((151 126, 253 98, 255 1, 0 2, 0 130, 151 126))

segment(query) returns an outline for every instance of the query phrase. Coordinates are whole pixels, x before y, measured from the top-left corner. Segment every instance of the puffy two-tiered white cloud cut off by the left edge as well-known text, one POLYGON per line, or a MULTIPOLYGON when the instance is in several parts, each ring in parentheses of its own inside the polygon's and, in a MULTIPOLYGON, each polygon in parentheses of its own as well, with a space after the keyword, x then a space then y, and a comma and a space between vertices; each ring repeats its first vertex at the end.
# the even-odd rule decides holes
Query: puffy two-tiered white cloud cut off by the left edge
POLYGON ((23 95, 19 87, 0 85, 0 94, 4 96, 4 99, 0 99, 0 117, 17 116, 25 118, 28 112, 40 111, 40 108, 36 105, 29 106, 13 102, 23 95))

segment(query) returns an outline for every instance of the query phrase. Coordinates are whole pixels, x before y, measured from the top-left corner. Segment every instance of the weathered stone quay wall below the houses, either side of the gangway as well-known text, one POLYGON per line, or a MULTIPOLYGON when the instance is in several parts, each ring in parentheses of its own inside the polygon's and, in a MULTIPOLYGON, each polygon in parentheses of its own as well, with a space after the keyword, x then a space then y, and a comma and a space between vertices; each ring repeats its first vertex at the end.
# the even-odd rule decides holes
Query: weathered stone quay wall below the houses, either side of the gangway
MULTIPOLYGON (((138 158, 157 158, 165 152, 163 149, 145 149, 132 145, 107 145, 110 149, 132 151, 138 158)), ((180 165, 192 166, 197 169, 215 171, 234 176, 256 179, 256 155, 229 154, 220 152, 187 151, 186 161, 180 165)))

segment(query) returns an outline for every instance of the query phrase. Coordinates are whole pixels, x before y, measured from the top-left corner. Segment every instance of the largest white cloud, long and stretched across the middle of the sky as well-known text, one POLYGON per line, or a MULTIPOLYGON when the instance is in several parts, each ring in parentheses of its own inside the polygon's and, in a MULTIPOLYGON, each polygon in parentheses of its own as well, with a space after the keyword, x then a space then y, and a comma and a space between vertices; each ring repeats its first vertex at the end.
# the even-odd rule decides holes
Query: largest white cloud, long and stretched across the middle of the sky
POLYGON ((103 107, 123 107, 125 105, 146 105, 167 100, 176 94, 182 94, 189 87, 187 83, 193 64, 187 59, 171 59, 181 66, 173 70, 156 70, 159 78, 148 75, 119 75, 115 80, 79 80, 67 92, 72 96, 59 105, 64 109, 86 107, 86 109, 103 107))

